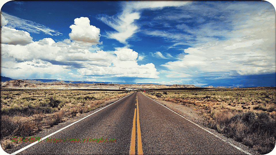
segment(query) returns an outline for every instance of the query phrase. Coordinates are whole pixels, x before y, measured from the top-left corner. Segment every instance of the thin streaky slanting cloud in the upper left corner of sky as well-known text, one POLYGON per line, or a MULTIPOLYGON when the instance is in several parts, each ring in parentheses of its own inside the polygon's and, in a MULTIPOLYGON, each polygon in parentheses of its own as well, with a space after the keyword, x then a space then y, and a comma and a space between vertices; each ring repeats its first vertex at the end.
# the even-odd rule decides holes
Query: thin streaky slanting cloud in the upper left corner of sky
POLYGON ((62 33, 57 32, 51 28, 48 28, 44 25, 37 24, 35 22, 24 20, 12 15, 9 15, 5 12, 1 12, 1 14, 5 17, 6 20, 8 20, 8 24, 6 25, 9 28, 20 28, 23 30, 26 30, 29 33, 45 33, 49 34, 51 36, 58 36, 62 35, 62 33))

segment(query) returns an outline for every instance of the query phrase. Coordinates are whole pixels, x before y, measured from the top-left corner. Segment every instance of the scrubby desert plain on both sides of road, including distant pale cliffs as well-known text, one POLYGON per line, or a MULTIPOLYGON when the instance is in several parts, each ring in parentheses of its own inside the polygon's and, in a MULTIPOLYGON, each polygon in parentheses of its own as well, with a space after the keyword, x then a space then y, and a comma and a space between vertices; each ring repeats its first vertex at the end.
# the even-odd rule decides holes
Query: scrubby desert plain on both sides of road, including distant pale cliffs
POLYGON ((164 106, 184 106, 186 111, 194 111, 205 127, 259 154, 275 148, 275 87, 199 88, 193 85, 68 84, 23 80, 1 82, 1 147, 3 150, 17 147, 20 143, 11 142, 15 136, 30 137, 44 132, 134 91, 141 91, 164 106))

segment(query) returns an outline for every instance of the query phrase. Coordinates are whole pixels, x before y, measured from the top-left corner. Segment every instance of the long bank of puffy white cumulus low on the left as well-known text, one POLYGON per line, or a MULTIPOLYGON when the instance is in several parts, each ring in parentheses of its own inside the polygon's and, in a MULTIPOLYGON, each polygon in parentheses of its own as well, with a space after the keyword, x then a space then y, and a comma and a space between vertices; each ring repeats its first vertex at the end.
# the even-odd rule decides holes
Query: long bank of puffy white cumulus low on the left
MULTIPOLYGON (((12 68, 21 68, 22 72, 26 68, 28 69, 26 73, 43 68, 43 71, 48 73, 50 69, 47 68, 55 66, 57 71, 71 75, 72 78, 77 78, 77 76, 69 74, 71 69, 77 69, 81 76, 159 78, 154 64, 137 64, 138 53, 132 49, 91 52, 88 48, 89 46, 83 47, 82 44, 68 39, 55 42, 51 38, 44 38, 23 46, 1 44, 4 62, 1 67, 8 69, 10 67, 8 64, 13 64, 12 68), (38 63, 34 64, 36 62, 38 63)), ((9 73, 12 74, 11 71, 6 71, 5 75, 9 73)))

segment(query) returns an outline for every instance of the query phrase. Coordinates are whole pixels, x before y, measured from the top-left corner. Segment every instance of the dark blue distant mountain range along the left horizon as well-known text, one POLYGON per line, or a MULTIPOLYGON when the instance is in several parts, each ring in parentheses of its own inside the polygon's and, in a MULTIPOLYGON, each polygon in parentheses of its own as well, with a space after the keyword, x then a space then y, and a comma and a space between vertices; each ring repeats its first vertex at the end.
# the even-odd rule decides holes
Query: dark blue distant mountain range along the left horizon
MULTIPOLYGON (((90 82, 90 81, 63 81, 63 80, 49 80, 49 79, 12 79, 12 78, 7 78, 5 76, 1 76, 1 81, 10 81, 10 80, 24 80, 29 83, 68 83, 68 84, 79 84, 79 83, 84 83, 84 84, 149 84, 149 83, 135 83, 135 82, 90 82)), ((155 84, 155 83, 150 83, 150 84, 155 84)))

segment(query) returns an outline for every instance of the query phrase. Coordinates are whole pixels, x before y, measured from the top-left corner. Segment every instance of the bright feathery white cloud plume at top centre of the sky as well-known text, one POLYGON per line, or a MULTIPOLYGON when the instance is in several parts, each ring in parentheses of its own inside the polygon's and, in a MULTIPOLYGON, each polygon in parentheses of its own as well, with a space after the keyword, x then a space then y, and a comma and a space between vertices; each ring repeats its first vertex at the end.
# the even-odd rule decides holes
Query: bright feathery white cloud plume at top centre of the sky
POLYGON ((138 1, 122 3, 124 6, 122 13, 112 17, 101 15, 98 19, 114 28, 116 32, 106 32, 106 37, 116 39, 121 43, 127 44, 127 39, 139 32, 139 26, 135 20, 141 17, 142 9, 162 9, 164 7, 179 7, 190 3, 189 1, 138 1))

